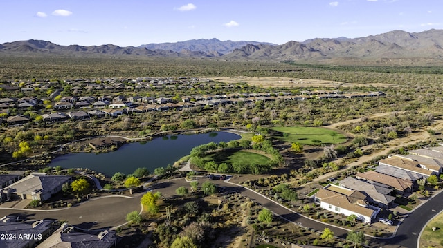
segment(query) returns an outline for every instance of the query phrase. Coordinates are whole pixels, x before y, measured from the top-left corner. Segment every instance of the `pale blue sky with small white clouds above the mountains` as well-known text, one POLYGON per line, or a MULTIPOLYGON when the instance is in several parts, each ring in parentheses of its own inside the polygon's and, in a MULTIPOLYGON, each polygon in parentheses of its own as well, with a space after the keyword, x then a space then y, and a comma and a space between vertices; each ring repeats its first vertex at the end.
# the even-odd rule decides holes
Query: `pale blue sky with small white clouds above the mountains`
POLYGON ((0 0, 0 43, 83 46, 217 38, 284 44, 443 28, 441 0, 0 0))

